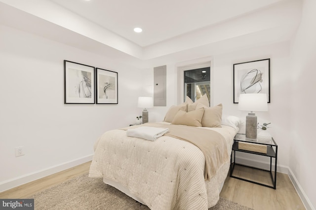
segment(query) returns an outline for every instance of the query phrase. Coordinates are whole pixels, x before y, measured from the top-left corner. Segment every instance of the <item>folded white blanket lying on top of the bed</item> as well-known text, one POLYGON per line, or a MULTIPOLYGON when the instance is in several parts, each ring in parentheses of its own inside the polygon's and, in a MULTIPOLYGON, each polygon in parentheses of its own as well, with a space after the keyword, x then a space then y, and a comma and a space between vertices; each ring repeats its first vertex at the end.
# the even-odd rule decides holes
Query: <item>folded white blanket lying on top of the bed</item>
POLYGON ((155 141, 158 137, 169 132, 169 128, 158 128, 142 126, 138 128, 128 129, 126 131, 127 136, 143 138, 150 141, 155 141))

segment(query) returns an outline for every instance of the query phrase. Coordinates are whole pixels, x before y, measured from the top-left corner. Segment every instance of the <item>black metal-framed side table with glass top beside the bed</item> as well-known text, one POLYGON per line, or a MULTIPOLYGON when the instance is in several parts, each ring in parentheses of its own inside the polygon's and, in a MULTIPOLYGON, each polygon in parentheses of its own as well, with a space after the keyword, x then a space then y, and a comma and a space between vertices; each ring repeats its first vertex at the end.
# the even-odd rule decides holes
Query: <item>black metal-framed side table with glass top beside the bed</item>
POLYGON ((270 143, 264 143, 264 142, 260 142, 258 140, 247 140, 245 135, 237 134, 234 137, 234 144, 233 144, 233 149, 232 149, 232 154, 231 154, 231 172, 230 172, 230 177, 236 178, 238 180, 244 180, 244 181, 248 181, 248 182, 251 182, 251 183, 255 183, 255 184, 259 184, 259 185, 262 185, 262 186, 266 186, 266 187, 270 187, 270 188, 276 189, 276 159, 277 159, 277 144, 276 144, 276 142, 275 142, 275 140, 273 138, 272 138, 270 143), (239 142, 246 142, 246 143, 258 144, 258 145, 266 145, 267 146, 267 153, 261 153, 261 152, 249 151, 249 150, 240 150, 240 149, 238 149, 238 143, 239 142), (234 162, 233 162, 233 152, 234 152, 234 162), (236 152, 245 152, 245 153, 250 153, 250 154, 270 157, 270 170, 261 169, 261 168, 255 168, 255 167, 252 167, 252 166, 247 166, 247 165, 236 163, 236 152), (274 176, 273 176, 273 171, 272 171, 272 158, 275 159, 274 176), (249 167, 249 168, 254 168, 254 169, 270 172, 271 180, 273 182, 273 186, 267 185, 267 184, 263 184, 263 183, 259 183, 259 182, 256 182, 256 181, 252 181, 252 180, 246 180, 246 179, 234 176, 233 172, 234 172, 235 165, 241 165, 241 166, 245 166, 245 167, 249 167))

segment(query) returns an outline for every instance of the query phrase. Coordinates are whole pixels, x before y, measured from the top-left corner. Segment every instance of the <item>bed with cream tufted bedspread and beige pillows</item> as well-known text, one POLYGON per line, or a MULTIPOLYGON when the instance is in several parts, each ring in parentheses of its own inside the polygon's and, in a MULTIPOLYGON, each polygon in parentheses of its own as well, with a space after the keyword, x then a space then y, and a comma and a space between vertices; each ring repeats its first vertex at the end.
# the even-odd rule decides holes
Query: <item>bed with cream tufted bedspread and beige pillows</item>
MULTIPOLYGON (((163 122, 106 131, 94 144, 95 153, 89 177, 103 178, 106 184, 116 187, 151 210, 207 210, 215 206, 230 168, 230 154, 234 136, 238 131, 238 120, 233 116, 222 120, 220 110, 217 112, 217 118, 220 117, 217 126, 202 126, 202 118, 209 117, 206 116, 210 113, 207 111, 214 111, 214 107, 195 106, 193 111, 187 112, 188 104, 185 104, 185 111, 181 110, 183 106, 182 104, 173 107, 177 110, 173 112, 171 107, 163 122), (200 113, 201 109, 202 116, 196 114, 200 113), (182 117, 179 120, 177 115, 180 112, 182 117), (168 120, 170 116, 171 122, 168 120), (192 125, 192 121, 195 121, 192 116, 197 116, 196 121, 199 121, 200 126, 192 125), (180 124, 175 123, 176 119, 180 124), (154 141, 127 135, 129 129, 141 126, 167 127, 171 130, 154 141), (222 142, 221 146, 215 147, 219 152, 215 159, 221 161, 210 160, 213 165, 209 165, 206 160, 214 159, 213 152, 209 152, 212 158, 207 157, 207 151, 201 150, 195 143, 181 139, 185 138, 183 136, 171 135, 173 128, 180 132, 181 129, 188 133, 194 131, 191 136, 196 135, 196 138, 203 133, 207 144, 213 141, 212 138, 221 139, 216 140, 222 142), (216 133, 215 137, 210 135, 205 138, 209 132, 216 133)), ((218 107, 221 109, 222 106, 215 108, 219 109, 218 107)), ((213 122, 214 120, 211 123, 213 122)), ((216 141, 215 145, 218 144, 216 141)))

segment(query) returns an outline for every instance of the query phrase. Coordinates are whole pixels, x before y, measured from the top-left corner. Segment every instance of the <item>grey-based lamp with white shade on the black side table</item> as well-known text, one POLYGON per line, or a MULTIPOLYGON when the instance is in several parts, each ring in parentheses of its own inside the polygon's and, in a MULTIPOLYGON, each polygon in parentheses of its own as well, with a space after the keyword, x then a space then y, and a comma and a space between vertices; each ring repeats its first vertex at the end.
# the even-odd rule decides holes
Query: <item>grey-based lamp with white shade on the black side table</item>
POLYGON ((245 93, 239 95, 238 110, 250 111, 246 116, 246 138, 257 138, 257 116, 253 111, 268 111, 267 94, 245 93))

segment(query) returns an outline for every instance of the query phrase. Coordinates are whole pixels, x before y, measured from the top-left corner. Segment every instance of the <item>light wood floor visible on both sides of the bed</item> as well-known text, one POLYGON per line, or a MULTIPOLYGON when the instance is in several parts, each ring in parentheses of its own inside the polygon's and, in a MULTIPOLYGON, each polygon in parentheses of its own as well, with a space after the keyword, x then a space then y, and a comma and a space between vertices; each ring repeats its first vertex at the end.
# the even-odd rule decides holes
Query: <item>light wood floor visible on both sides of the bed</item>
MULTIPOLYGON (((40 180, 35 180, 1 192, 0 198, 18 199, 30 197, 32 194, 40 192, 41 190, 87 173, 90 163, 91 162, 87 162, 40 180)), ((271 184, 269 174, 267 176, 266 172, 259 170, 236 166, 234 175, 271 184)), ((286 174, 281 173, 277 173, 276 176, 276 190, 228 176, 220 196, 255 210, 305 210, 291 180, 286 174)))

